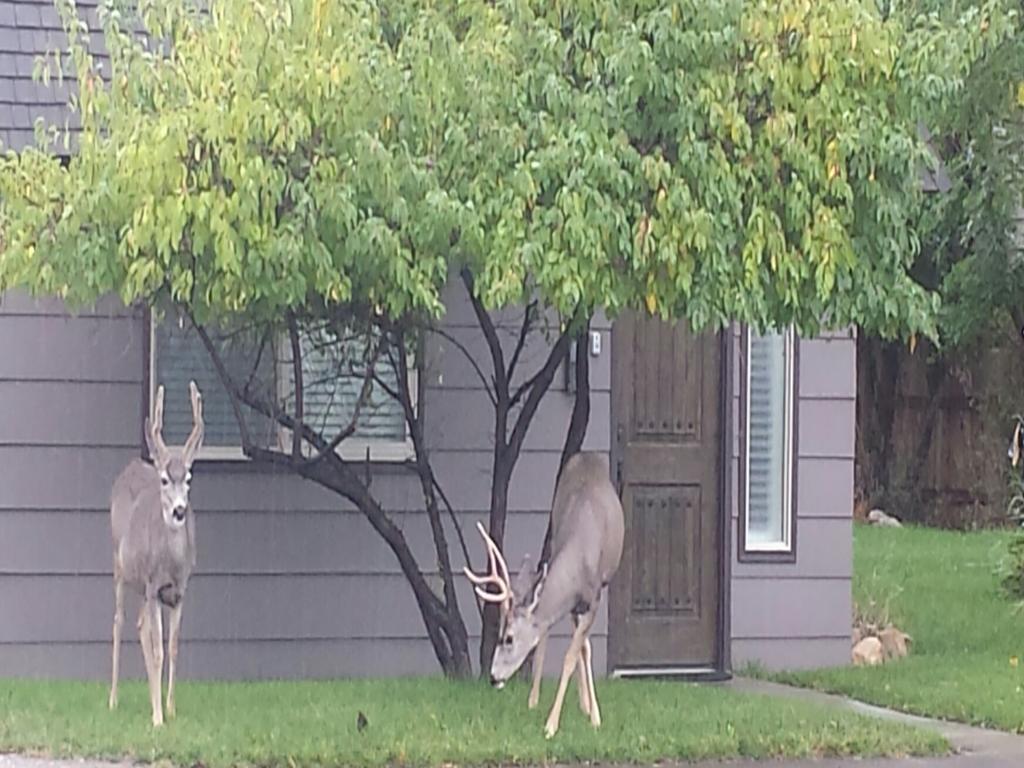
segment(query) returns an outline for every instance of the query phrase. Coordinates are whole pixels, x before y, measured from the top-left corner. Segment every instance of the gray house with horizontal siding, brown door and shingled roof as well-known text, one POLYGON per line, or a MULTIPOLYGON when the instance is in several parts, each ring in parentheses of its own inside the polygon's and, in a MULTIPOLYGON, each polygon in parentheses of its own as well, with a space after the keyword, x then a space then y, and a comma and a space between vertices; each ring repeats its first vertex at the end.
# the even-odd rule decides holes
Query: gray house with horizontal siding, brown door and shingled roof
MULTIPOLYGON (((62 123, 63 94, 31 80, 34 56, 60 38, 48 0, 0 0, 5 147, 30 143, 37 117, 62 123)), ((452 339, 484 371, 489 358, 461 285, 446 299, 450 338, 427 343, 418 402, 438 479, 468 534, 489 505, 494 427, 452 339)), ((515 321, 497 317, 510 343, 515 321)), ((181 674, 435 674, 384 542, 340 497, 241 459, 225 400, 195 350, 173 324, 155 326, 114 298, 72 313, 56 299, 0 297, 0 677, 109 676, 111 484, 142 451, 157 381, 168 388, 168 441, 186 429, 188 378, 204 390, 208 424, 194 469, 199 564, 181 674)), ((530 339, 523 378, 547 350, 530 339)), ((598 672, 720 676, 752 662, 848 663, 855 350, 852 332, 694 335, 641 315, 595 319, 585 449, 608 454, 627 515, 623 563, 592 634, 598 672)), ((510 492, 510 563, 540 550, 572 400, 558 377, 527 435, 510 492)), ((418 480, 395 462, 408 451, 395 424, 381 412, 357 435, 356 456, 369 449, 375 495, 429 568, 430 531, 418 480)), ((469 545, 479 564, 479 543, 469 545)), ((460 589, 475 638, 472 593, 460 589)), ((555 648, 568 632, 567 622, 557 628, 555 648)), ((141 675, 134 648, 123 664, 141 675)), ((547 664, 558 668, 560 652, 547 664)))

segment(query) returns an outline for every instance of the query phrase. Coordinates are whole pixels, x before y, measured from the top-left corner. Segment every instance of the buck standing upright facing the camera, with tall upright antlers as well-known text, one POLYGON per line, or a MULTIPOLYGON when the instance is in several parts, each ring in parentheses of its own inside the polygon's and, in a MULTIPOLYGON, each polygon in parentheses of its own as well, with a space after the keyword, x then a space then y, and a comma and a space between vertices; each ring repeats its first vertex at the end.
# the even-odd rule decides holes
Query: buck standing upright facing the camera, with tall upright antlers
POLYGON ((164 672, 162 605, 170 608, 167 669, 167 715, 174 717, 174 665, 178 655, 181 606, 196 565, 196 525, 188 503, 191 464, 203 444, 203 399, 196 382, 191 395, 193 431, 180 449, 164 443, 164 387, 157 390, 153 418, 145 422, 145 441, 153 464, 134 459, 114 481, 111 530, 114 535, 114 668, 113 710, 118 706, 121 628, 125 586, 142 595, 138 636, 150 680, 153 724, 162 725, 161 684, 164 672))

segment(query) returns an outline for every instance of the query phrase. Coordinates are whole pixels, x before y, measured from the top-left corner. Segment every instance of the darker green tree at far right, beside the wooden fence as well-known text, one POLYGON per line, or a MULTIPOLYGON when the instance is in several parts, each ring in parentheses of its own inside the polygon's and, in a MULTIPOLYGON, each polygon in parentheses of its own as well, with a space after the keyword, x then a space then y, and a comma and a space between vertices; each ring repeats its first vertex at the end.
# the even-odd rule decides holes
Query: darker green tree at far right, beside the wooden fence
MULTIPOLYGON (((910 30, 914 49, 931 47, 930 66, 941 68, 946 83, 935 88, 919 79, 920 113, 947 183, 926 196, 914 221, 922 249, 911 268, 941 296, 938 344, 924 345, 914 355, 913 348, 870 334, 858 341, 858 492, 870 504, 912 516, 926 514, 919 508, 921 483, 941 418, 940 395, 963 390, 972 400, 986 401, 975 422, 985 429, 993 407, 1005 411, 998 406, 1005 392, 998 389, 1014 385, 1013 379, 986 376, 980 354, 993 343, 1005 344, 1008 330, 1019 340, 1024 328, 1018 224, 1024 189, 1024 29, 1020 3, 1012 1, 924 0, 892 3, 886 12, 910 30), (927 406, 914 446, 899 455, 893 432, 898 390, 901 377, 918 366, 927 406)), ((1016 368, 1019 381, 1024 370, 1016 368)), ((1005 416, 996 417, 1000 433, 1005 416)), ((993 498, 1002 492, 986 489, 993 498)))

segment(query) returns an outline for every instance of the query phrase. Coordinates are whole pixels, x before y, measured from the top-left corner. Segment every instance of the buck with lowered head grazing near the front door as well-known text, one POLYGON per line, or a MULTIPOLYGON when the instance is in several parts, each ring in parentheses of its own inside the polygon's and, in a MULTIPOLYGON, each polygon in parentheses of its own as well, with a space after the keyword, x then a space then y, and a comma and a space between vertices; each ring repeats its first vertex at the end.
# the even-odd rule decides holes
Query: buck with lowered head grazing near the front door
POLYGON ((490 664, 492 684, 502 687, 537 648, 530 709, 537 706, 540 695, 548 633, 563 617, 572 620, 572 639, 544 729, 548 738, 558 731, 565 688, 573 670, 581 709, 595 728, 601 724, 588 635, 601 591, 618 568, 624 536, 623 507, 608 476, 606 456, 581 453, 566 462, 555 488, 551 524, 551 557, 540 573, 530 570, 527 556, 513 584, 505 558, 480 523, 477 529, 486 545, 490 569, 485 575, 465 569, 479 598, 501 605, 499 643, 490 664), (487 586, 498 591, 488 592, 487 586))

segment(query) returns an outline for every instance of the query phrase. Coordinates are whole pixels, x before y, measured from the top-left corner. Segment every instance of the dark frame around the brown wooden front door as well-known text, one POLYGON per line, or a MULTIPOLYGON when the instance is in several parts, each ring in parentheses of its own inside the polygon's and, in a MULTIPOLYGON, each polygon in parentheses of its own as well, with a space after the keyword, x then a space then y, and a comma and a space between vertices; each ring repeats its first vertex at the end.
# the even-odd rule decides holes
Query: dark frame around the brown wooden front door
MULTIPOLYGON (((611 333, 615 333, 615 325, 612 324, 611 333)), ((730 622, 730 609, 731 609, 731 575, 732 575, 732 550, 729 544, 732 542, 732 507, 733 507, 733 494, 732 494, 732 442, 733 434, 736 428, 734 419, 732 418, 732 399, 733 399, 733 387, 735 382, 735 361, 733 356, 737 350, 736 346, 736 334, 733 326, 726 326, 724 329, 717 332, 720 346, 719 354, 719 424, 721 425, 721 437, 719 439, 719 525, 718 525, 718 541, 716 542, 716 548, 718 549, 718 582, 719 582, 719 595, 718 595, 718 639, 716 641, 716 658, 714 663, 714 669, 712 672, 699 672, 694 674, 674 674, 670 677, 682 677, 687 680, 727 680, 732 677, 732 643, 731 638, 731 622, 730 622)), ((611 350, 614 350, 615 345, 612 343, 610 345, 611 350)), ((620 470, 622 461, 622 435, 617 428, 618 422, 616 421, 617 414, 616 406, 618 398, 615 396, 614 386, 616 381, 616 376, 614 372, 615 359, 614 352, 611 352, 612 358, 610 360, 610 371, 611 371, 611 397, 610 399, 610 444, 611 444, 611 467, 614 474, 615 489, 618 492, 620 497, 623 494, 622 486, 622 473, 620 470)), ((615 578, 622 578, 616 574, 615 578)), ((610 601, 610 590, 608 592, 608 599, 610 601)), ((608 625, 608 634, 611 635, 614 632, 614 627, 610 624, 608 625)), ((614 674, 614 670, 611 669, 610 658, 607 662, 607 673, 614 674)), ((646 677, 642 670, 630 670, 623 677, 646 677)), ((663 675, 664 677, 664 675, 663 675)))

